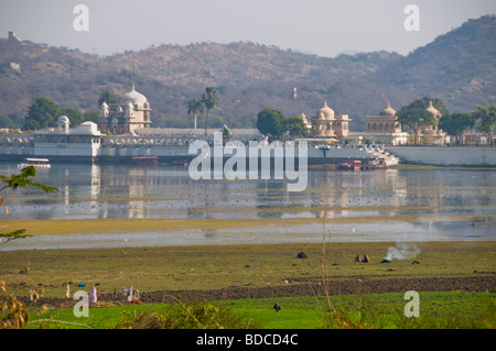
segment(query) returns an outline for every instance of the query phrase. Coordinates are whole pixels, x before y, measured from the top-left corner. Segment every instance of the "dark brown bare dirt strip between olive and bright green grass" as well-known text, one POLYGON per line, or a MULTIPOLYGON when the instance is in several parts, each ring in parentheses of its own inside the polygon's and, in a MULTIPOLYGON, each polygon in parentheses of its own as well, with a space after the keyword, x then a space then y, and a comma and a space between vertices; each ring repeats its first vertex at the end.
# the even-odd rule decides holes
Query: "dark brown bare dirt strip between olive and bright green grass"
MULTIPOLYGON (((229 286, 211 290, 163 290, 140 293, 142 304, 169 304, 181 301, 215 301, 246 298, 325 296, 348 294, 381 294, 421 292, 496 292, 496 275, 484 274, 467 277, 401 277, 384 278, 375 276, 356 276, 334 278, 323 282, 320 278, 305 277, 291 281, 280 286, 252 287, 229 286)), ((42 298, 36 303, 22 298, 28 306, 45 304, 54 308, 72 308, 74 300, 63 298, 42 298)), ((122 305, 111 294, 98 296, 99 306, 122 305)))

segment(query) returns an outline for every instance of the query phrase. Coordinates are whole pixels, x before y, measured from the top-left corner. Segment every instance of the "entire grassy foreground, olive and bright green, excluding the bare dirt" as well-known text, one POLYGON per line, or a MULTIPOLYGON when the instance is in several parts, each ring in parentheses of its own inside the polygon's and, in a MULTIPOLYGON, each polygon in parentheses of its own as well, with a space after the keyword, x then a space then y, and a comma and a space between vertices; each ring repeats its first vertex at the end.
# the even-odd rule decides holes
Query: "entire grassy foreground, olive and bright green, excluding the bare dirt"
POLYGON ((380 263, 388 248, 396 246, 387 242, 3 251, 0 283, 4 282, 4 290, 0 289, 0 299, 15 295, 26 300, 30 290, 43 290, 40 301, 46 299, 47 312, 40 314, 41 305, 28 299, 28 328, 496 327, 496 242, 410 244, 418 249, 418 264, 412 264, 412 259, 380 263), (299 252, 308 257, 298 259, 299 252), (356 254, 367 254, 370 262, 355 262, 356 254), (441 286, 445 278, 451 285, 441 286), (352 289, 330 293, 328 299, 316 293, 293 297, 272 293, 319 282, 331 286, 348 282, 352 289), (375 289, 360 289, 366 282, 374 283, 370 286, 375 289), (85 287, 79 288, 79 283, 85 287), (406 285, 386 293, 398 283, 406 285), (179 297, 181 304, 173 305, 157 304, 161 297, 144 298, 142 305, 123 306, 107 297, 89 309, 89 318, 76 318, 71 308, 75 301, 65 298, 67 284, 72 294, 78 289, 89 293, 97 286, 101 297, 130 285, 141 293, 159 293, 159 297, 162 292, 191 290, 204 292, 206 297, 197 301, 179 297), (215 295, 224 289, 266 293, 237 299, 215 295), (377 294, 377 289, 384 293, 377 294), (405 293, 410 289, 419 293, 418 318, 405 317, 405 293), (53 305, 51 299, 62 300, 62 305, 53 305), (276 303, 282 308, 279 314, 272 309, 276 303))

